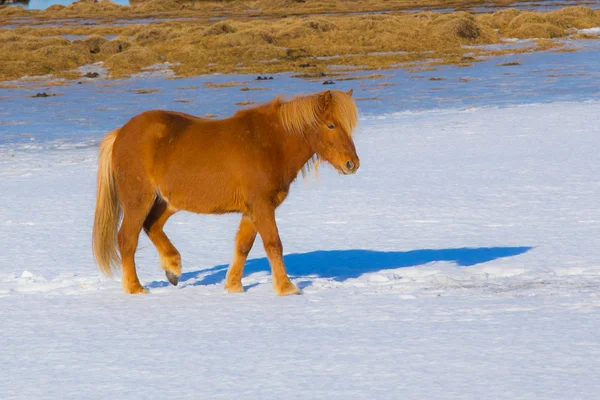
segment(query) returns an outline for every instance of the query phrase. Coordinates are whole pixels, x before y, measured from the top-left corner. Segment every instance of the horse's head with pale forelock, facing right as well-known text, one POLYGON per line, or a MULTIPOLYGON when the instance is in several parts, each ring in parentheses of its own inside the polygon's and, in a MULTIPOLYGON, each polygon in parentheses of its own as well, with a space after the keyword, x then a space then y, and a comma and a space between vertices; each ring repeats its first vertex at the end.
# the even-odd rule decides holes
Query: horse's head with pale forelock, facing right
POLYGON ((326 91, 318 95, 319 118, 316 134, 311 135, 313 148, 321 160, 327 161, 344 175, 353 174, 360 166, 352 130, 357 110, 352 90, 326 91))

